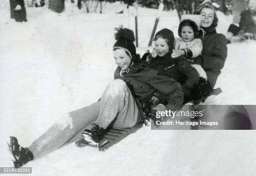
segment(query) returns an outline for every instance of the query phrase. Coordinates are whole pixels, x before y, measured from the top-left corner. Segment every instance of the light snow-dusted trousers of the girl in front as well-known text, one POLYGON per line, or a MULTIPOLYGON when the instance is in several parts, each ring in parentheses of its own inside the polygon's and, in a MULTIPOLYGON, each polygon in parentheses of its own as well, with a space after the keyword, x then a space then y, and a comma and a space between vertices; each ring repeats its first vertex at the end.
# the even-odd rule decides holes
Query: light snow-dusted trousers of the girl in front
POLYGON ((103 128, 109 125, 128 128, 141 121, 142 117, 131 91, 123 80, 115 79, 106 87, 100 101, 69 112, 33 141, 28 149, 33 153, 34 159, 37 159, 64 144, 82 139, 81 132, 91 128, 92 122, 103 128))

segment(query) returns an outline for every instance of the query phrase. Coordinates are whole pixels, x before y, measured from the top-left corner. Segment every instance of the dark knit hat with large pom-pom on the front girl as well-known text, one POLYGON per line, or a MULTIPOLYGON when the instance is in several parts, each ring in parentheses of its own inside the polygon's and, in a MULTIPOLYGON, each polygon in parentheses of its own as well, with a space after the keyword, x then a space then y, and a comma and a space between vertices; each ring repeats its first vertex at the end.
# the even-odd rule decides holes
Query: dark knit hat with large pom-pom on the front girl
POLYGON ((131 59, 136 56, 136 47, 134 45, 135 37, 132 30, 123 26, 115 28, 115 44, 113 49, 123 49, 129 53, 131 59))

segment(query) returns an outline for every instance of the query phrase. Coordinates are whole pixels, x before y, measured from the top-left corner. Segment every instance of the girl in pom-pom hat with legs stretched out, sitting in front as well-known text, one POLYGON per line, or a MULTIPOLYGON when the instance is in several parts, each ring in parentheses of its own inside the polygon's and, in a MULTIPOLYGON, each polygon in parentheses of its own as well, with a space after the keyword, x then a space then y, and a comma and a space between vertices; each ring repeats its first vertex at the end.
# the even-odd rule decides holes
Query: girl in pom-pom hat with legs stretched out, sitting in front
POLYGON ((10 136, 8 149, 14 167, 19 168, 28 161, 82 138, 91 145, 98 146, 102 132, 110 124, 115 128, 128 128, 142 122, 142 104, 156 91, 166 94, 169 104, 182 103, 181 85, 151 69, 146 61, 140 60, 133 43, 133 31, 122 26, 115 30, 117 32, 113 55, 118 67, 114 81, 108 84, 100 101, 68 113, 28 148, 20 146, 18 139, 10 136), (92 128, 88 129, 91 123, 92 128))

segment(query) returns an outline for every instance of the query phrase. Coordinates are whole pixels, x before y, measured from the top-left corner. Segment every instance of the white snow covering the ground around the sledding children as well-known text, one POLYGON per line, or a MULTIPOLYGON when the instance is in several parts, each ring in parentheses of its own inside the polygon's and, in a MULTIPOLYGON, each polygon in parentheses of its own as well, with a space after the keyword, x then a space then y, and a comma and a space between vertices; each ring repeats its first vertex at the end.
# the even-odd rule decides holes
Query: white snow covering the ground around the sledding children
MULTIPOLYGON (((0 166, 10 166, 7 136, 29 146, 67 112, 95 102, 113 79, 114 27, 134 27, 134 17, 86 14, 66 3, 56 14, 27 8, 28 22, 10 20, 8 0, 0 0, 0 166)), ((139 46, 147 46, 157 10, 138 9, 139 46)), ((218 32, 225 34, 231 17, 218 13, 218 32)), ((175 11, 163 12, 157 30, 177 36, 175 11)), ((216 87, 223 93, 214 104, 256 104, 256 43, 228 45, 228 58, 216 87)), ((253 176, 256 173, 255 131, 151 130, 144 126, 106 152, 74 144, 26 166, 35 176, 147 175, 253 176)), ((28 174, 31 175, 31 174, 28 174)))

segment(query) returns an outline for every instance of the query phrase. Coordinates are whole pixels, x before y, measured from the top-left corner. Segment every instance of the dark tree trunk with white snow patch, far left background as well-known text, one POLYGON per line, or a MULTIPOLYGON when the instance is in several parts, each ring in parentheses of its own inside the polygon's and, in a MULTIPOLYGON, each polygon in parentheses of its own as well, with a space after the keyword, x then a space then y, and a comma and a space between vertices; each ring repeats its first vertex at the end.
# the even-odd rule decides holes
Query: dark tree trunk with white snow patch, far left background
POLYGON ((27 21, 24 0, 10 0, 10 17, 17 22, 27 21))

